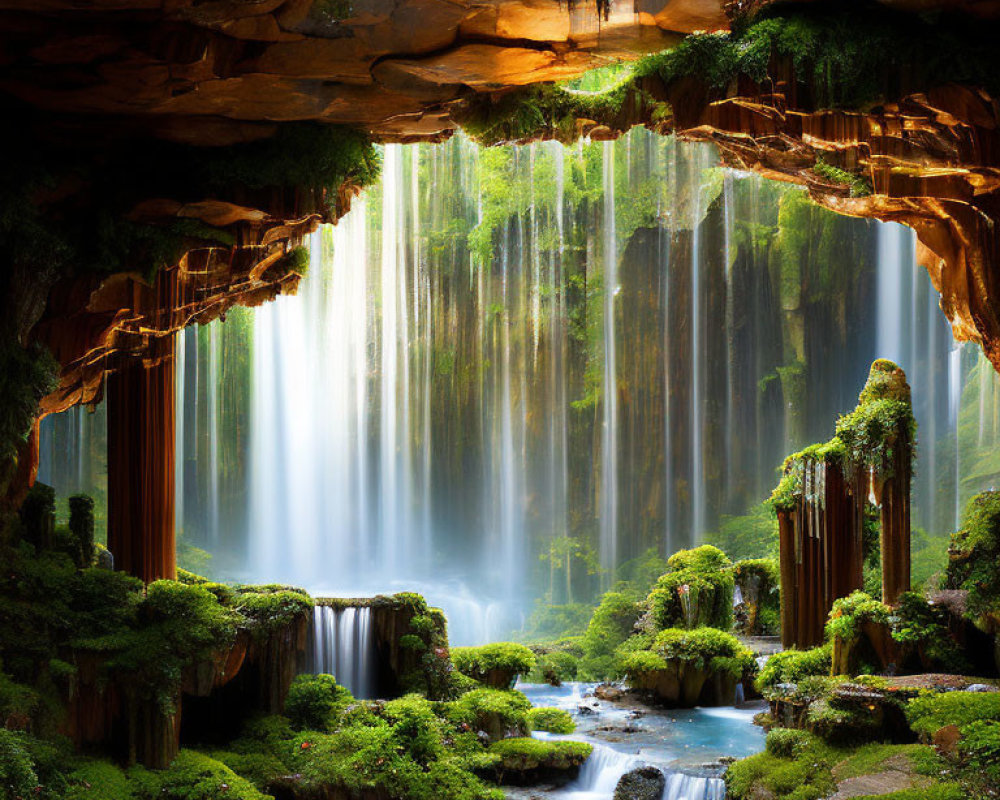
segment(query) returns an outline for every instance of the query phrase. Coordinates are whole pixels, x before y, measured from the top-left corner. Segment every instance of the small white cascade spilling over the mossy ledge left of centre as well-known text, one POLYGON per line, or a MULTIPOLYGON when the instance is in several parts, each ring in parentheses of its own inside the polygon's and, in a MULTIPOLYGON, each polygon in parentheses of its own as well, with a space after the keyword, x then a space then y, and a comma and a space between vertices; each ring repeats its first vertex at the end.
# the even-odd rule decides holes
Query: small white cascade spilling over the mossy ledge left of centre
POLYGON ((370 608, 318 605, 313 610, 309 671, 333 675, 360 700, 375 689, 375 640, 370 608))

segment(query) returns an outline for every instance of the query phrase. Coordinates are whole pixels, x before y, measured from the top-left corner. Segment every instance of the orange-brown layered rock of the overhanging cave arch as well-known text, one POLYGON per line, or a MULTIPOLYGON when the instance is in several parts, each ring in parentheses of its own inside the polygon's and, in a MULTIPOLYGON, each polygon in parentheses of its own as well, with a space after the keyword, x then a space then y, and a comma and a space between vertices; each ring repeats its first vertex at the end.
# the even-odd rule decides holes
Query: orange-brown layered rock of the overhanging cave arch
MULTIPOLYGON (((27 409, 13 434, 0 431, 0 440, 14 442, 0 453, 0 512, 31 480, 27 431, 39 412, 97 399, 107 370, 130 359, 156 363, 164 341, 185 325, 295 290, 293 248, 342 214, 364 181, 341 164, 302 186, 314 164, 342 153, 304 150, 301 138, 284 136, 289 130, 351 126, 375 141, 440 139, 470 104, 660 51, 696 31, 724 31, 730 17, 740 22, 771 5, 785 7, 767 0, 637 0, 606 9, 589 0, 0 0, 0 93, 19 120, 6 149, 46 166, 41 176, 14 170, 0 197, 18 210, 3 215, 2 235, 18 246, 5 247, 0 273, 0 339, 14 355, 0 357, 20 364, 18 354, 37 343, 59 369, 57 386, 26 378, 31 390, 16 403, 0 397, 27 409), (270 148, 269 177, 256 186, 253 170, 233 166, 253 147, 270 148), (135 168, 125 162, 116 172, 108 165, 122 152, 135 168), (214 169, 227 158, 229 171, 214 169), (60 166, 67 159, 72 169, 60 166), (167 166, 156 172, 156 164, 167 166), (125 179, 150 170, 150 179, 125 179), (110 262, 106 244, 94 247, 91 260, 101 265, 94 269, 79 252, 37 243, 40 233, 80 227, 81 219, 77 242, 119 241, 117 229, 102 234, 105 206, 146 246, 110 262), (102 213, 88 217, 97 207, 102 213), (24 208, 35 213, 27 222, 24 208), (183 233, 176 255, 143 279, 148 233, 165 227, 183 233)), ((879 7, 962 12, 987 25, 1000 16, 992 0, 879 7)), ((968 81, 914 88, 906 71, 893 102, 829 111, 799 91, 787 59, 772 59, 766 81, 732 80, 721 94, 706 90, 707 77, 647 82, 615 119, 578 115, 578 129, 614 136, 647 124, 712 140, 728 163, 804 184, 840 213, 911 225, 956 337, 981 344, 1000 367, 998 106, 968 81), (839 172, 818 169, 823 164, 839 172), (857 196, 844 176, 874 191, 857 196)))

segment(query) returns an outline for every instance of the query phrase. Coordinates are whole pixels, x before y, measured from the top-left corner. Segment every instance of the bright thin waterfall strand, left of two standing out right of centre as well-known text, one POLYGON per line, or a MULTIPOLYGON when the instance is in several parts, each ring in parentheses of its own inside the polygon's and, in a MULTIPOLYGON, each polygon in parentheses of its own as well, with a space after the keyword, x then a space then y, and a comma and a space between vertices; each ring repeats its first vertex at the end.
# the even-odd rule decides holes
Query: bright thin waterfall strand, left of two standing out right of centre
POLYGON ((614 580, 618 563, 618 371, 615 297, 618 294, 618 237, 615 231, 614 142, 603 149, 604 188, 604 415, 601 443, 601 566, 614 580))

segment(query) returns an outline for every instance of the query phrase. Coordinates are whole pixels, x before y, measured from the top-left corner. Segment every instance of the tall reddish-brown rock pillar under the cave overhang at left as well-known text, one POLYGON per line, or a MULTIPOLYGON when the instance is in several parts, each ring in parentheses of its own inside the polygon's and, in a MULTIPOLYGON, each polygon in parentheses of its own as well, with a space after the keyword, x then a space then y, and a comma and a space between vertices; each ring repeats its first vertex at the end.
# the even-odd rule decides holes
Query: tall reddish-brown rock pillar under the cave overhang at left
POLYGON ((115 569, 176 578, 173 337, 108 375, 108 549, 115 569))

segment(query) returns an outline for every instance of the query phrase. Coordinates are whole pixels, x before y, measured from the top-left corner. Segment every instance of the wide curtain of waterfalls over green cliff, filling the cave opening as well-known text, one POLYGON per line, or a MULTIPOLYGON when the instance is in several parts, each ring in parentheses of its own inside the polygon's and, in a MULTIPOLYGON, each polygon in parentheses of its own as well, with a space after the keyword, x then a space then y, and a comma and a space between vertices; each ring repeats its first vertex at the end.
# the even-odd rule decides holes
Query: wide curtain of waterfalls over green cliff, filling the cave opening
MULTIPOLYGON (((298 296, 182 335, 182 564, 424 590, 454 641, 506 635, 650 550, 759 555, 739 531, 775 468, 879 356, 913 387, 914 518, 943 542, 989 486, 1000 392, 912 233, 717 164, 643 130, 387 147, 298 296)), ((103 491, 101 419, 43 422, 60 495, 103 491)))

